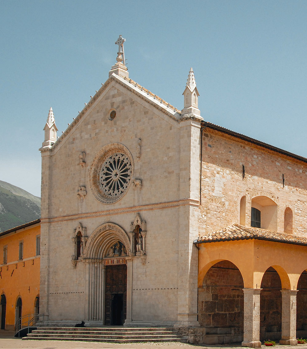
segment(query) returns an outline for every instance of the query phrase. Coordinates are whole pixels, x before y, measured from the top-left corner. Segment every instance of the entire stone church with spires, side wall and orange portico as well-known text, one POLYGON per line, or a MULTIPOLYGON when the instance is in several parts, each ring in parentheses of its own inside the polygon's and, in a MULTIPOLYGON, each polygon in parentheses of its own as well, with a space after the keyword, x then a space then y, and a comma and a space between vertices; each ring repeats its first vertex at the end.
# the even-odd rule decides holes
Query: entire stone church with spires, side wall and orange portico
POLYGON ((130 79, 120 49, 58 139, 50 109, 40 312, 175 326, 195 343, 297 344, 307 159, 205 122, 192 68, 183 95, 178 110, 130 79))

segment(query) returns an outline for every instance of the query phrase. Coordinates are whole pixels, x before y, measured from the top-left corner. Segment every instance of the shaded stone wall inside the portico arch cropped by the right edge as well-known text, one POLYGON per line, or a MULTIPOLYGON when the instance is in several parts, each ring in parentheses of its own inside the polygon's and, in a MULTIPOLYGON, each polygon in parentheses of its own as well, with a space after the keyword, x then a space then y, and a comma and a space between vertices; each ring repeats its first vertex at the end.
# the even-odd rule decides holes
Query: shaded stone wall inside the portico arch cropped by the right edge
POLYGON ((297 330, 307 330, 307 272, 299 278, 297 293, 297 330))

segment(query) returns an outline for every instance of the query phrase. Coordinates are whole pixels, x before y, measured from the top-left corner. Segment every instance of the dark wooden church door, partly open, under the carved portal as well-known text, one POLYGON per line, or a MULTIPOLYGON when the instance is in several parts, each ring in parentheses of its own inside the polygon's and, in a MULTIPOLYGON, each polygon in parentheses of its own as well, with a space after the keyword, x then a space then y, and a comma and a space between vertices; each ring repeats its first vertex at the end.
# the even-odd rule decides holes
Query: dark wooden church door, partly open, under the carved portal
POLYGON ((123 325, 127 314, 127 265, 105 269, 105 325, 123 325))

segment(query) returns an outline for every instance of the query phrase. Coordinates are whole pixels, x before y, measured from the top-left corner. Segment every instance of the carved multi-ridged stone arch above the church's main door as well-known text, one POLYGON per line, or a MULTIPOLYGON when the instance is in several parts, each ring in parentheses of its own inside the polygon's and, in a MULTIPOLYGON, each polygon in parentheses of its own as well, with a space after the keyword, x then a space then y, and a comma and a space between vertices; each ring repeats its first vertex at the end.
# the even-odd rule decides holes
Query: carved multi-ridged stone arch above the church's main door
POLYGON ((117 241, 122 242, 127 254, 131 254, 131 246, 127 233, 119 225, 114 223, 104 223, 95 229, 89 237, 84 250, 84 258, 103 259, 108 249, 117 241))

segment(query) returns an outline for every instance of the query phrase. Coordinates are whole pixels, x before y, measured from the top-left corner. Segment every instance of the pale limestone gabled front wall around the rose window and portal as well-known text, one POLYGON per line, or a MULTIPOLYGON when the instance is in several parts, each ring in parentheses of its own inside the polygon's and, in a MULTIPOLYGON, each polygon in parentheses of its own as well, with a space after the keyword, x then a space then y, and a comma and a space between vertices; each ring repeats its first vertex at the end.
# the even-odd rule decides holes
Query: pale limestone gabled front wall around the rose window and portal
MULTIPOLYGON (((193 132, 199 135, 199 126, 193 132)), ((41 268, 41 297, 42 311, 49 314, 50 320, 86 318, 86 263, 79 260, 76 268, 72 263, 78 222, 86 227, 88 237, 108 222, 128 234, 137 213, 147 223, 147 257, 144 265, 140 258, 133 258, 132 318, 177 320, 178 304, 186 302, 179 296, 180 287, 186 287, 178 283, 180 262, 184 256, 189 266, 195 238, 189 237, 190 206, 180 201, 190 198, 190 134, 191 121, 179 123, 171 119, 113 81, 66 138, 58 141, 51 155, 43 154, 42 243, 46 253, 41 268), (117 110, 113 121, 107 118, 111 108, 117 110), (119 201, 105 204, 93 196, 89 172, 99 151, 114 142, 130 151, 133 177, 140 179, 142 185, 131 184, 119 201), (81 152, 85 153, 84 166, 79 163, 81 152), (77 194, 82 186, 86 190, 84 198, 77 194), (184 245, 180 244, 180 234, 186 234, 184 245)), ((199 162, 199 150, 195 158, 199 162)), ((192 189, 199 188, 199 171, 193 176, 197 178, 192 178, 192 189)), ((193 190, 199 193, 199 189, 193 190)), ((197 229, 193 229, 196 235, 197 229)), ((197 253, 193 258, 196 265, 197 253)), ((194 274, 197 285, 197 267, 194 274)), ((196 309, 197 296, 190 296, 196 309)))

